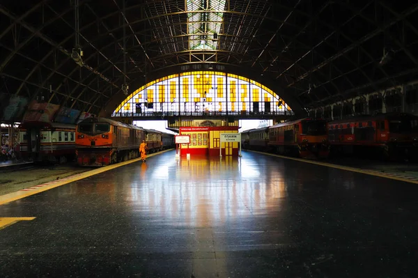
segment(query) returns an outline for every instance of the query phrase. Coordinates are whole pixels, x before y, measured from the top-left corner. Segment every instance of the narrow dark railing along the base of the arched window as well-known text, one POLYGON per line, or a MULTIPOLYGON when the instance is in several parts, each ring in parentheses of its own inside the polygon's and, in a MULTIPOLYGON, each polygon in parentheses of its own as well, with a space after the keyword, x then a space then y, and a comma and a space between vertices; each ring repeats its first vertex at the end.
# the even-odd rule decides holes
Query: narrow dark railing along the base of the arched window
POLYGON ((293 111, 168 111, 168 112, 118 112, 112 117, 169 117, 169 116, 293 116, 293 111))

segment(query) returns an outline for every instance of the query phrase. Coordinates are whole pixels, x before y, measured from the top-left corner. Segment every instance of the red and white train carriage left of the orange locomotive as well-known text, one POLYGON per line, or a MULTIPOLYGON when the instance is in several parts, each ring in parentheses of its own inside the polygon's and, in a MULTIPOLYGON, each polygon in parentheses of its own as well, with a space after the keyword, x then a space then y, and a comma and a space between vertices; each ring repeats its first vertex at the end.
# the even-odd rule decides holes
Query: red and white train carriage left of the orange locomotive
POLYGON ((60 163, 74 159, 75 125, 24 122, 19 129, 22 158, 60 163))

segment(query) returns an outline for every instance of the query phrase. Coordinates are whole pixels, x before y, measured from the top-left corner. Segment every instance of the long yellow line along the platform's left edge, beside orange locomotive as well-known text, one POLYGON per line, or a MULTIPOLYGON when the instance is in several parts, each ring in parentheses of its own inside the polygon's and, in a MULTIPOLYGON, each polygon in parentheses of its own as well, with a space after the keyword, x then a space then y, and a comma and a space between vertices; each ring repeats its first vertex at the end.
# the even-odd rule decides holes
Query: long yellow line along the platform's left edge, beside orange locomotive
MULTIPOLYGON (((169 150, 173 150, 173 149, 171 148, 169 150)), ((169 150, 162 150, 158 153, 152 153, 150 155, 147 155, 147 159, 148 159, 148 157, 152 157, 154 155, 160 155, 162 153, 166 153, 169 150)), ((17 191, 17 192, 12 192, 12 193, 9 193, 9 194, 4 194, 4 195, 0 196, 0 205, 3 205, 5 203, 10 203, 11 201, 16 201, 16 200, 19 200, 19 199, 23 199, 27 196, 31 196, 31 195, 34 195, 34 194, 38 194, 40 192, 51 190, 52 188, 59 187, 61 185, 66 185, 68 183, 72 183, 72 182, 75 182, 77 180, 82 180, 83 178, 88 178, 90 176, 97 175, 98 173, 103 173, 105 171, 116 169, 118 167, 122 167, 122 166, 125 166, 127 164, 131 164, 131 163, 139 162, 139 161, 141 161, 141 157, 134 158, 133 160, 127 160, 127 161, 124 161, 124 162, 119 162, 119 163, 116 163, 116 164, 111 164, 111 165, 108 165, 108 166, 100 167, 98 169, 94 169, 94 170, 91 170, 91 171, 86 171, 84 173, 79 173, 75 176, 67 177, 65 180, 58 180, 56 183, 53 183, 51 185, 45 185, 45 186, 42 186, 42 187, 36 187, 34 185, 34 186, 30 187, 31 190, 29 190, 29 191, 17 191)))

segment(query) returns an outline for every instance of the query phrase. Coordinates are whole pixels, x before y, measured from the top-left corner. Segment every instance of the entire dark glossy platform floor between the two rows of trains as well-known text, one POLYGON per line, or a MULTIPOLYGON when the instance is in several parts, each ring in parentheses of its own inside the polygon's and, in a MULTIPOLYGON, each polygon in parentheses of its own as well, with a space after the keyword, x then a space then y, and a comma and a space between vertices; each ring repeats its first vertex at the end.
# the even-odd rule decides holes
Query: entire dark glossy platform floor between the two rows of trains
POLYGON ((258 153, 170 151, 0 206, 36 217, 0 229, 0 276, 417 277, 417 193, 258 153))

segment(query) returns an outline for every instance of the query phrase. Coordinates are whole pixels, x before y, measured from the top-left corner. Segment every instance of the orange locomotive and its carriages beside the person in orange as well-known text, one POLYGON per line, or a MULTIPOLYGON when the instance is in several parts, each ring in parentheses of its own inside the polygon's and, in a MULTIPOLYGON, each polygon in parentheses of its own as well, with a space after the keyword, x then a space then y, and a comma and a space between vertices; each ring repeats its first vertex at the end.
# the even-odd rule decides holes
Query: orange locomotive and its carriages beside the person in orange
POLYGON ((104 166, 130 160, 139 156, 139 144, 142 140, 146 140, 148 152, 154 153, 172 148, 173 138, 171 134, 146 130, 107 118, 86 118, 77 125, 77 164, 104 166), (167 140, 167 137, 171 139, 167 140))

